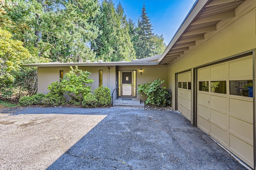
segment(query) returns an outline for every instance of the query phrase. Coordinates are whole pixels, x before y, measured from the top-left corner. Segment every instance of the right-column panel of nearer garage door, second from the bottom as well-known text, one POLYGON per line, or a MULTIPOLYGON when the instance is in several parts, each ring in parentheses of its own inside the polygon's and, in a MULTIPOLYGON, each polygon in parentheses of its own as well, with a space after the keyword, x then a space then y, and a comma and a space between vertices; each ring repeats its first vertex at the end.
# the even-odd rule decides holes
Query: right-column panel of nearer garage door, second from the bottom
POLYGON ((251 143, 253 142, 253 124, 230 116, 229 129, 234 133, 246 138, 251 143))

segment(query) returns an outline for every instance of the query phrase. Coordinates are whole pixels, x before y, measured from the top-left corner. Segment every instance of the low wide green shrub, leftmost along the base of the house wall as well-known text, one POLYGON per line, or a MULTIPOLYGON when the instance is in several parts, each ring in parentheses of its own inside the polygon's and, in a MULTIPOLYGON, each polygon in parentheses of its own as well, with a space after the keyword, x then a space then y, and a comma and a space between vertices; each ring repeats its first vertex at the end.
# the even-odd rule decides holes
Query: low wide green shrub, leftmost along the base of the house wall
POLYGON ((19 100, 19 103, 22 106, 43 104, 43 102, 44 102, 44 94, 42 93, 38 93, 33 96, 23 96, 19 100))

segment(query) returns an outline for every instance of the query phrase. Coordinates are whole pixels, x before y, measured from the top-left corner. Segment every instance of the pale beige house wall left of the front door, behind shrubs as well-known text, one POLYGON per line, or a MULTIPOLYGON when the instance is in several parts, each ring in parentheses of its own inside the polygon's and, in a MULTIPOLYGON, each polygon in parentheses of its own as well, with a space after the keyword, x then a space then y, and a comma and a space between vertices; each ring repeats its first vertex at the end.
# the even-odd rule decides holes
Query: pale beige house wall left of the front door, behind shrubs
MULTIPOLYGON (((115 66, 110 66, 108 69, 106 66, 80 66, 78 69, 87 70, 90 72, 89 78, 92 78, 94 82, 89 85, 92 87, 92 92, 99 86, 99 70, 103 70, 102 85, 110 87, 111 94, 115 88, 115 76, 112 74, 116 72, 115 66), (109 76, 110 75, 110 76, 109 76)), ((38 93, 47 94, 49 90, 48 85, 52 82, 60 80, 60 70, 63 70, 64 75, 70 70, 69 67, 38 67, 38 93)), ((67 98, 67 96, 65 96, 67 98)))

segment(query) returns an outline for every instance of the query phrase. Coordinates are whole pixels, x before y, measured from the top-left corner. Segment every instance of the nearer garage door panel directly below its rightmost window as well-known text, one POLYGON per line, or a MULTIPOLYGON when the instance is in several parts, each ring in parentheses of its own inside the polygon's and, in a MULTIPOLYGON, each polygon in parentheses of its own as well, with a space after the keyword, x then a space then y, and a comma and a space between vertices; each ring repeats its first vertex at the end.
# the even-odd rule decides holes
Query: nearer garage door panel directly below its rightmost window
POLYGON ((235 114, 252 121, 253 102, 230 98, 229 106, 230 106, 229 108, 230 114, 235 114))

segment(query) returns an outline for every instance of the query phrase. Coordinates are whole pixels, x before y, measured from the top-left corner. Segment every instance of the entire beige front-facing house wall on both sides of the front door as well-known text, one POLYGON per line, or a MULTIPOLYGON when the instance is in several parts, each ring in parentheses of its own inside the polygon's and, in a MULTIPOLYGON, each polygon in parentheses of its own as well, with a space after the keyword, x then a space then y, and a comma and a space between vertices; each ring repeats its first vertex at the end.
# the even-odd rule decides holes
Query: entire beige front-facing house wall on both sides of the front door
MULTIPOLYGON (((89 85, 92 87, 92 92, 95 88, 99 86, 99 70, 103 70, 103 86, 110 88, 110 93, 112 94, 113 90, 116 88, 118 80, 116 80, 116 66, 110 66, 108 69, 106 66, 80 66, 78 67, 82 70, 87 70, 91 74, 89 78, 93 78, 94 82, 89 85)), ((67 73, 70 68, 69 67, 39 67, 38 68, 38 93, 47 94, 49 90, 47 87, 52 82, 56 82, 60 80, 60 70, 67 73)), ((168 85, 167 80, 167 67, 159 67, 159 66, 119 66, 117 70, 136 70, 137 73, 137 85, 143 84, 147 82, 153 82, 156 79, 165 80, 163 86, 168 85), (140 74, 140 69, 142 69, 142 74, 140 74)), ((68 96, 65 95, 68 99, 68 96)), ((113 98, 116 99, 116 92, 113 94, 113 98)), ((137 95, 137 98, 142 101, 146 100, 145 96, 137 95)))

